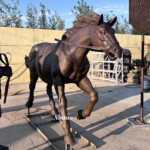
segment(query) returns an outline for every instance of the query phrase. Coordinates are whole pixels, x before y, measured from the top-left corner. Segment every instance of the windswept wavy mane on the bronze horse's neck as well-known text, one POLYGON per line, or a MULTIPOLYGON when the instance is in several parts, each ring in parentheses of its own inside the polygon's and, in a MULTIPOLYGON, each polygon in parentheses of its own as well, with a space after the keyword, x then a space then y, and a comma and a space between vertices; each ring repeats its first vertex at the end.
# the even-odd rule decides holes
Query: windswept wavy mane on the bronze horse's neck
POLYGON ((77 16, 77 21, 73 22, 73 27, 66 29, 66 32, 64 33, 65 36, 68 38, 72 36, 73 33, 78 31, 79 29, 89 25, 89 24, 98 24, 98 21, 100 19, 100 15, 96 14, 93 11, 89 12, 89 15, 86 16, 77 16))

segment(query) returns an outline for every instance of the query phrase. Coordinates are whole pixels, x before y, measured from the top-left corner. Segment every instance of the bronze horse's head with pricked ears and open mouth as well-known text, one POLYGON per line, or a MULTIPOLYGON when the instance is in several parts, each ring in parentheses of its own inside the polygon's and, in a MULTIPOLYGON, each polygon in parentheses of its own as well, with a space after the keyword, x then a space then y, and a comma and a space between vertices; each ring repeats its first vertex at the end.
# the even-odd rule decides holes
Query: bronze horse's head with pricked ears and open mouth
POLYGON ((115 37, 115 30, 112 28, 116 20, 117 17, 105 23, 103 15, 101 15, 91 36, 92 45, 105 47, 103 51, 110 60, 115 60, 116 57, 120 58, 122 55, 122 48, 115 37))

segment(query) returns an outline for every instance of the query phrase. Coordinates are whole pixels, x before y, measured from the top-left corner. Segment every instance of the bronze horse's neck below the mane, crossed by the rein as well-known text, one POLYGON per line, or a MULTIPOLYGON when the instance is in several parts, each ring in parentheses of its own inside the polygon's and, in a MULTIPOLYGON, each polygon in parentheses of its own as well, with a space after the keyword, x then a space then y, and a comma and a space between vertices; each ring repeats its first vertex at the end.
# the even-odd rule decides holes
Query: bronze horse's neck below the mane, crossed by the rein
MULTIPOLYGON (((75 45, 85 45, 90 46, 91 45, 91 31, 89 28, 79 29, 75 34, 73 34, 72 37, 68 39, 69 43, 75 44, 75 45)), ((69 46, 69 50, 71 51, 73 57, 81 62, 85 56, 88 53, 88 50, 86 48, 78 48, 76 46, 69 46)))

